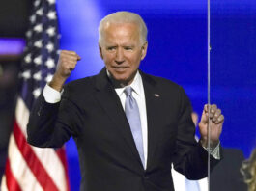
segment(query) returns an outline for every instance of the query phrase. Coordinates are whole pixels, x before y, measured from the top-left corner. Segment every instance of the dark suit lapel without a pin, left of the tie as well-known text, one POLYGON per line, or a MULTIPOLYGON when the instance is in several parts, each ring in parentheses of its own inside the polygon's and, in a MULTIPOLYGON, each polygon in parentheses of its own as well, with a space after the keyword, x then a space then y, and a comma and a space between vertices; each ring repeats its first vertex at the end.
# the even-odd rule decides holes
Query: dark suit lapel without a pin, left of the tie
POLYGON ((100 74, 96 76, 96 88, 96 98, 110 120, 115 124, 113 125, 113 128, 116 128, 121 136, 124 137, 128 148, 142 166, 120 98, 108 79, 105 68, 103 68, 100 71, 100 74))

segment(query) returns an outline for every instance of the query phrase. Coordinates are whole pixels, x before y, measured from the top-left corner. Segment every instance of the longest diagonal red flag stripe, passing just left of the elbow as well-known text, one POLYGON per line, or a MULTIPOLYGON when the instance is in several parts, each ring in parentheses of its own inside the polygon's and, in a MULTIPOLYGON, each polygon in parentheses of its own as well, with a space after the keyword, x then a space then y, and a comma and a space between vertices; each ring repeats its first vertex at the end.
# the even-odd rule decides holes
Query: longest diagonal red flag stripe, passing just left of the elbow
POLYGON ((26 142, 19 126, 14 122, 14 138, 16 141, 17 148, 20 150, 24 159, 26 160, 30 170, 33 172, 35 177, 38 179, 39 183, 42 185, 44 191, 58 191, 55 183, 52 181, 51 177, 45 171, 42 163, 26 142))

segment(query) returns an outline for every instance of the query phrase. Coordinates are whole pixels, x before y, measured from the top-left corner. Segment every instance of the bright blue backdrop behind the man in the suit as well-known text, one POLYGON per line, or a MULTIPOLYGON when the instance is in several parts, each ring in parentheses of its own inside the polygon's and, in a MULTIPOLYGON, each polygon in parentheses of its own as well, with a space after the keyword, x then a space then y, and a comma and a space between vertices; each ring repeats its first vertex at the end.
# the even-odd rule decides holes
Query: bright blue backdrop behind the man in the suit
MULTIPOLYGON (((61 48, 82 60, 69 80, 97 74, 103 67, 98 25, 106 14, 140 14, 149 29, 145 72, 171 79, 185 88, 194 110, 207 102, 207 2, 202 0, 58 1, 61 48)), ((211 102, 225 115, 221 143, 248 157, 256 146, 256 2, 211 3, 211 102)), ((67 143, 71 190, 79 187, 78 156, 67 143)))

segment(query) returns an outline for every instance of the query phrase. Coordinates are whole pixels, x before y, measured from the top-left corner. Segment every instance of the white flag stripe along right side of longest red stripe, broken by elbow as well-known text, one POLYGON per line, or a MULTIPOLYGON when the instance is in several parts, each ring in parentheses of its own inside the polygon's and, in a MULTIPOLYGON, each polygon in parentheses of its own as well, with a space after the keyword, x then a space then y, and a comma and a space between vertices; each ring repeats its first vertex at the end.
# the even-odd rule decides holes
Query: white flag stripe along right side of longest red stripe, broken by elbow
MULTIPOLYGON (((23 114, 23 118, 21 115, 16 116, 16 123, 22 130, 23 136, 26 135, 26 124, 24 122, 28 122, 29 118, 29 111, 26 108, 26 105, 22 98, 18 97, 17 99, 17 106, 16 106, 16 115, 17 114, 23 114)), ((64 183, 63 181, 60 181, 60 178, 63 180, 67 180, 67 173, 64 164, 62 164, 60 158, 57 155, 57 152, 52 149, 42 149, 42 148, 36 148, 31 146, 34 153, 37 155, 38 159, 42 164, 44 165, 44 169, 49 175, 49 177, 53 180, 53 182, 56 184, 57 188, 59 190, 67 190, 68 186, 67 183, 64 183)), ((65 157, 65 156, 64 156, 65 157)), ((67 164, 65 164, 67 165, 67 164)))

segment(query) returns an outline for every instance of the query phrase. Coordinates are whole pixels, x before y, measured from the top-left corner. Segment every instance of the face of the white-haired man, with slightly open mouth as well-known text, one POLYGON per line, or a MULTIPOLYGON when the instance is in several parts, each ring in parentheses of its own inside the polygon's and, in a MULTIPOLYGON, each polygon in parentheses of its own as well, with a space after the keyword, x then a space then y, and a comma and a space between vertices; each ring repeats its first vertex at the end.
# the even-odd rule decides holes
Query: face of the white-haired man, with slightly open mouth
POLYGON ((100 56, 111 76, 129 85, 146 56, 148 44, 141 44, 138 26, 133 23, 107 23, 103 30, 100 56))

